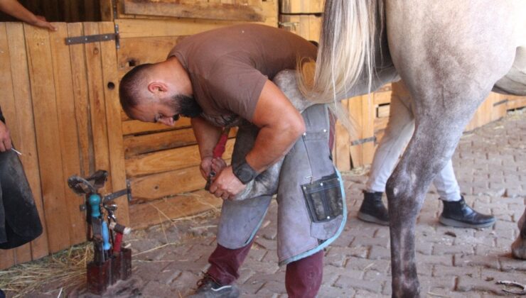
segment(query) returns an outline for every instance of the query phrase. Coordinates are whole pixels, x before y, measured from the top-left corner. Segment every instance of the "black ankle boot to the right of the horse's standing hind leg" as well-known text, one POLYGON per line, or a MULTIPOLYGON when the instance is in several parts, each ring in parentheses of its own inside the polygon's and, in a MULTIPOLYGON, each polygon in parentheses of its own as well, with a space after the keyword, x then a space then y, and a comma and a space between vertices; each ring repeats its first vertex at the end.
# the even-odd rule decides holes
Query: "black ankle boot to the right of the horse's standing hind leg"
POLYGON ((439 221, 446 226, 455 226, 457 228, 485 228, 493 226, 495 216, 478 213, 466 205, 464 197, 458 202, 444 203, 444 211, 440 215, 439 221))

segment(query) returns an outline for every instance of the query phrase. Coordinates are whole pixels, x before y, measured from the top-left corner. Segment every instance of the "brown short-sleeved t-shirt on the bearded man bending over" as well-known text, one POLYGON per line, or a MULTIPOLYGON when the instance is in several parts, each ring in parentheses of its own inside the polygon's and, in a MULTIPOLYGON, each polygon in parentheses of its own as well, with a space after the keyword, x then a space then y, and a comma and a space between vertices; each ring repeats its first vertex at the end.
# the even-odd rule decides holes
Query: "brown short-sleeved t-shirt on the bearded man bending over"
POLYGON ((316 47, 282 29, 242 24, 185 38, 171 50, 188 71, 201 116, 215 126, 252 121, 267 79, 316 57, 316 47))

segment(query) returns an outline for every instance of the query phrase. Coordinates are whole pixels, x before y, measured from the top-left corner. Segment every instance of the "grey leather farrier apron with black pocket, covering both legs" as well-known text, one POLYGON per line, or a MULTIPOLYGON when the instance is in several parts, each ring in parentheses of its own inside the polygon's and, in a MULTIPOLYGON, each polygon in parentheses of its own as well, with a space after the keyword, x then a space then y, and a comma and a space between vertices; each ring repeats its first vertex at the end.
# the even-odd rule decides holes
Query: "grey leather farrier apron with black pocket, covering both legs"
MULTIPOLYGON (((279 265, 317 253, 343 230, 347 218, 345 193, 328 147, 327 106, 310 106, 301 115, 306 133, 289 153, 249 183, 247 191, 237 196, 240 200, 223 203, 220 245, 235 249, 252 241, 274 194, 278 202, 279 265)), ((250 123, 240 126, 233 165, 245 159, 258 131, 250 123)))

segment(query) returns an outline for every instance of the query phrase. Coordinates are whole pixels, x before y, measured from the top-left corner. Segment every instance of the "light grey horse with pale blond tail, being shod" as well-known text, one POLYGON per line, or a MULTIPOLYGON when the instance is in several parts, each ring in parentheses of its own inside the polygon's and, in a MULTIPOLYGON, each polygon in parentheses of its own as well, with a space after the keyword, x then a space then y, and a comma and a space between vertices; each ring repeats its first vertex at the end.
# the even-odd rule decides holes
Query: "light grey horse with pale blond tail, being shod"
POLYGON ((366 94, 398 76, 415 129, 386 189, 392 295, 418 297, 414 226, 429 184, 490 91, 526 95, 526 1, 326 0, 313 80, 304 67, 311 99, 366 94))

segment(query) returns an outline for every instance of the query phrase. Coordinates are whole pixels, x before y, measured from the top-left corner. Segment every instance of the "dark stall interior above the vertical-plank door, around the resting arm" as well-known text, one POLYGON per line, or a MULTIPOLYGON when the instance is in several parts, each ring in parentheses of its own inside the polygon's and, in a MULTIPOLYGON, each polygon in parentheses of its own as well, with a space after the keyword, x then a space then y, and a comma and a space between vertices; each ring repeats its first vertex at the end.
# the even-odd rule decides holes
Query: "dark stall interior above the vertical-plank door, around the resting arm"
MULTIPOLYGON (((50 22, 100 21, 99 0, 17 0, 37 16, 50 22)), ((0 22, 17 21, 0 12, 0 22)))

